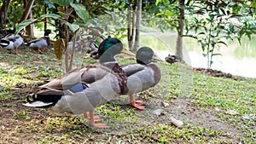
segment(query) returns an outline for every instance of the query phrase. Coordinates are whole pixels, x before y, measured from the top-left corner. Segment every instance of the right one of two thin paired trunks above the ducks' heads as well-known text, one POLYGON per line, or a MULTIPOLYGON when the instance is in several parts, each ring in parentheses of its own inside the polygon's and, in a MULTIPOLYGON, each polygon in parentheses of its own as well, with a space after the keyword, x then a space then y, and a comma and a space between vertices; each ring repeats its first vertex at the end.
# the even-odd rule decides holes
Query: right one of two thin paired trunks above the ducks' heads
POLYGON ((135 42, 132 52, 135 52, 139 48, 139 40, 140 40, 140 23, 141 23, 141 15, 142 15, 142 0, 137 0, 137 11, 136 11, 136 28, 135 28, 135 42))

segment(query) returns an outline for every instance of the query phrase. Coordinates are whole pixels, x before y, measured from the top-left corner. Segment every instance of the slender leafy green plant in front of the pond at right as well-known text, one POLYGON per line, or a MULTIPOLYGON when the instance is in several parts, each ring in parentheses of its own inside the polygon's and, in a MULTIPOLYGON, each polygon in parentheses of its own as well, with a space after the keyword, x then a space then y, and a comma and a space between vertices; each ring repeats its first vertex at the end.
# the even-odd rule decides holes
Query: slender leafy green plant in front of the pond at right
POLYGON ((230 1, 195 0, 189 9, 190 20, 186 26, 187 34, 184 36, 193 37, 200 43, 203 56, 207 56, 208 69, 212 67, 213 56, 221 55, 216 53, 218 45, 228 46, 223 38, 233 40, 236 37, 241 43, 242 36, 251 38, 251 35, 256 33, 251 8, 247 8, 246 4, 239 4, 240 10, 232 11, 236 6, 236 2, 230 1), (242 14, 244 11, 247 13, 242 14), (194 30, 195 34, 189 34, 191 30, 194 30))

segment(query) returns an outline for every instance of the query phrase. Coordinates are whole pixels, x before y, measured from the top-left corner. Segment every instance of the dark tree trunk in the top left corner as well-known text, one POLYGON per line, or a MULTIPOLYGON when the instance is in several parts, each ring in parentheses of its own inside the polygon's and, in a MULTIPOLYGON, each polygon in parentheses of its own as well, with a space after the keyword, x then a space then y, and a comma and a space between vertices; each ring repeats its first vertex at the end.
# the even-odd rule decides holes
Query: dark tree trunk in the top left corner
POLYGON ((4 32, 4 28, 6 26, 7 12, 8 12, 10 3, 11 3, 11 0, 3 1, 3 5, 0 9, 0 33, 3 33, 4 35, 6 34, 4 32))

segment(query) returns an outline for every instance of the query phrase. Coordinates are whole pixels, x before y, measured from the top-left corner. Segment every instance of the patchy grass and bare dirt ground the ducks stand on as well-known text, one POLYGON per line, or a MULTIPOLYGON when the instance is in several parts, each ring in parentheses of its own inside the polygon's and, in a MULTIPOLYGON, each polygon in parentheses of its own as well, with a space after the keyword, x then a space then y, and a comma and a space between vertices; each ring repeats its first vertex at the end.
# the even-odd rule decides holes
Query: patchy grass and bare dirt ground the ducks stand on
MULTIPOLYGON (((160 84, 137 96, 146 110, 132 108, 123 95, 96 108, 109 126, 96 130, 80 116, 23 107, 34 86, 62 74, 61 60, 32 49, 20 49, 20 55, 6 52, 0 49, 0 143, 253 143, 256 138, 255 79, 236 81, 228 74, 214 78, 197 73, 205 73, 202 69, 192 72, 178 63, 159 62, 160 84), (156 116, 159 109, 163 112, 156 116), (228 110, 238 113, 227 114, 228 110), (177 128, 171 117, 183 121, 183 126, 177 128)), ((78 66, 96 63, 77 61, 78 66)))

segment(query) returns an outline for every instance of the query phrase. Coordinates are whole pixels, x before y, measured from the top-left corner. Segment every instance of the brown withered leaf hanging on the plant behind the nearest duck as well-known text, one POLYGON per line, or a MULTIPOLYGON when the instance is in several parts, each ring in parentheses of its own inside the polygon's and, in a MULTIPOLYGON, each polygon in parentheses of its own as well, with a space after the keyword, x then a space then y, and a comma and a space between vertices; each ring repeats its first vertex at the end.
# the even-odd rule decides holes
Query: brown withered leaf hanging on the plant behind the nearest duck
POLYGON ((66 50, 64 39, 63 38, 57 39, 55 43, 53 43, 53 47, 54 47, 56 57, 59 60, 61 60, 61 57, 64 51, 66 50))

